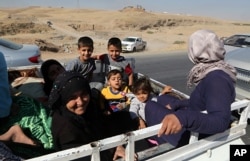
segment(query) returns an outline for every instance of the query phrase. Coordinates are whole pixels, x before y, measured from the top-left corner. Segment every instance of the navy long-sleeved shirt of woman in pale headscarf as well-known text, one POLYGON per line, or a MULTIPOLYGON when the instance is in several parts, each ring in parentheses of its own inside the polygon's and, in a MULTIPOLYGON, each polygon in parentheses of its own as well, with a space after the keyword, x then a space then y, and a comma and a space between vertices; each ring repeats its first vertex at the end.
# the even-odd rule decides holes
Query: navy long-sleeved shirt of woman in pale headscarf
POLYGON ((215 70, 208 73, 191 93, 189 110, 178 110, 175 114, 186 129, 215 134, 228 128, 234 101, 232 79, 222 70, 215 70), (207 111, 207 114, 200 111, 207 111))

